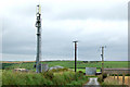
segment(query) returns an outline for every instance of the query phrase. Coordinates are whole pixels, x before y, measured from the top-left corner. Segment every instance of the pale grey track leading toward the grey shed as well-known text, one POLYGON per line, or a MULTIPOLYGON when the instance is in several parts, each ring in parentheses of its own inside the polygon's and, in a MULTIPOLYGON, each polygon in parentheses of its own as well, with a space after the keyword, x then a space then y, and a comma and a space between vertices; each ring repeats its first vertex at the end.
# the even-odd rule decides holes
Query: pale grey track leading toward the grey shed
POLYGON ((92 77, 89 78, 89 83, 87 83, 83 87, 101 87, 101 86, 98 82, 98 77, 92 77))

